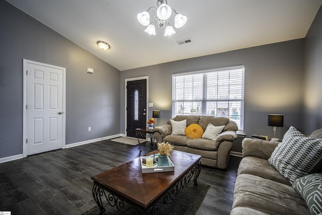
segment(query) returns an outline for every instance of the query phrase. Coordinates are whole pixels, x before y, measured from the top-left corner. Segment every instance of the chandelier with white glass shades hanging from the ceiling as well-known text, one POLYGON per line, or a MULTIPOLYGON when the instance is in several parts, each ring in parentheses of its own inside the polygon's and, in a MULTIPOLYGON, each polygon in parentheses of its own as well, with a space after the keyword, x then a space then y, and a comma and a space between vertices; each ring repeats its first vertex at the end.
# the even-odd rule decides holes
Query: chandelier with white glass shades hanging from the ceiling
POLYGON ((157 0, 156 5, 158 7, 157 9, 154 7, 150 7, 147 11, 143 11, 142 13, 139 13, 137 15, 137 20, 139 21, 139 23, 141 23, 144 26, 147 26, 146 29, 144 30, 146 33, 156 35, 155 27, 154 27, 154 21, 155 21, 160 28, 164 28, 166 26, 165 36, 170 36, 172 34, 175 34, 176 31, 169 23, 169 18, 172 15, 172 11, 174 11, 176 14, 175 16, 176 28, 181 28, 186 24, 187 17, 183 16, 182 14, 178 14, 175 11, 175 9, 170 8, 167 0, 157 0), (156 10, 156 14, 153 16, 153 19, 150 22, 149 11, 152 8, 156 10))

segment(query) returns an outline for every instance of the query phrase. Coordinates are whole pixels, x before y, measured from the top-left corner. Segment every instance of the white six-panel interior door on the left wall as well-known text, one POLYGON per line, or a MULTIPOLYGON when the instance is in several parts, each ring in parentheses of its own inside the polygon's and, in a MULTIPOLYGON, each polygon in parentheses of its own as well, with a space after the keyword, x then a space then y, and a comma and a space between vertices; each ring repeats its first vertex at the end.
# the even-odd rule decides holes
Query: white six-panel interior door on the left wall
POLYGON ((63 148, 64 68, 26 61, 27 155, 63 148))

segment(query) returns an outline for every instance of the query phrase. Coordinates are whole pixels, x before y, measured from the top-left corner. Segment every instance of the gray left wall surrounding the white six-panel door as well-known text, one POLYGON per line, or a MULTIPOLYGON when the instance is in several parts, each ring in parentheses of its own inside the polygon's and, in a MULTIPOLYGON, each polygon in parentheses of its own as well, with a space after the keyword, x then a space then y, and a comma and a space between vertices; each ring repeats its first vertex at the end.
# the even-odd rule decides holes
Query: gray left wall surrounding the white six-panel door
POLYGON ((0 29, 0 158, 22 154, 23 58, 66 68, 66 145, 120 133, 118 69, 6 1, 0 29))

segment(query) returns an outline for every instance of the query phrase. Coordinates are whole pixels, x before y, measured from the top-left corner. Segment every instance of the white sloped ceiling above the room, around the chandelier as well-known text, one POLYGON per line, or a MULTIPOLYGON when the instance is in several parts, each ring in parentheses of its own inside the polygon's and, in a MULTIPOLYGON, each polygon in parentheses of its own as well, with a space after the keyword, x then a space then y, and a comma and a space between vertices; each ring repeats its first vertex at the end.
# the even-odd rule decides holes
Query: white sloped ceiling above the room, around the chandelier
MULTIPOLYGON (((322 0, 168 0, 188 21, 165 37, 165 29, 157 25, 157 35, 148 35, 136 19, 138 13, 156 7, 156 0, 7 2, 121 71, 303 38, 322 4, 322 0), (187 38, 193 42, 176 43, 187 38), (99 49, 99 40, 111 49, 99 49)), ((174 27, 174 15, 169 20, 174 27)))

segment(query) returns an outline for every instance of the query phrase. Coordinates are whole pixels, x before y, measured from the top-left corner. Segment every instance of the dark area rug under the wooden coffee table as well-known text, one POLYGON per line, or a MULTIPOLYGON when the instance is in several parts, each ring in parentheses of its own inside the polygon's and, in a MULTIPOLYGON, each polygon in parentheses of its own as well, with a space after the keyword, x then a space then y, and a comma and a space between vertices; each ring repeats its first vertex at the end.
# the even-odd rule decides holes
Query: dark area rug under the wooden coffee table
MULTIPOLYGON (((184 188, 177 198, 168 203, 162 202, 156 203, 157 213, 163 215, 195 215, 205 198, 210 185, 198 182, 199 186, 195 186, 193 182, 190 182, 186 188, 184 188)), ((161 199, 162 201, 163 199, 161 199)), ((125 215, 127 213, 121 213, 116 207, 110 206, 106 201, 103 202, 106 208, 104 215, 125 215)), ((99 207, 95 205, 92 209, 83 213, 82 215, 94 215, 99 214, 99 207)))

